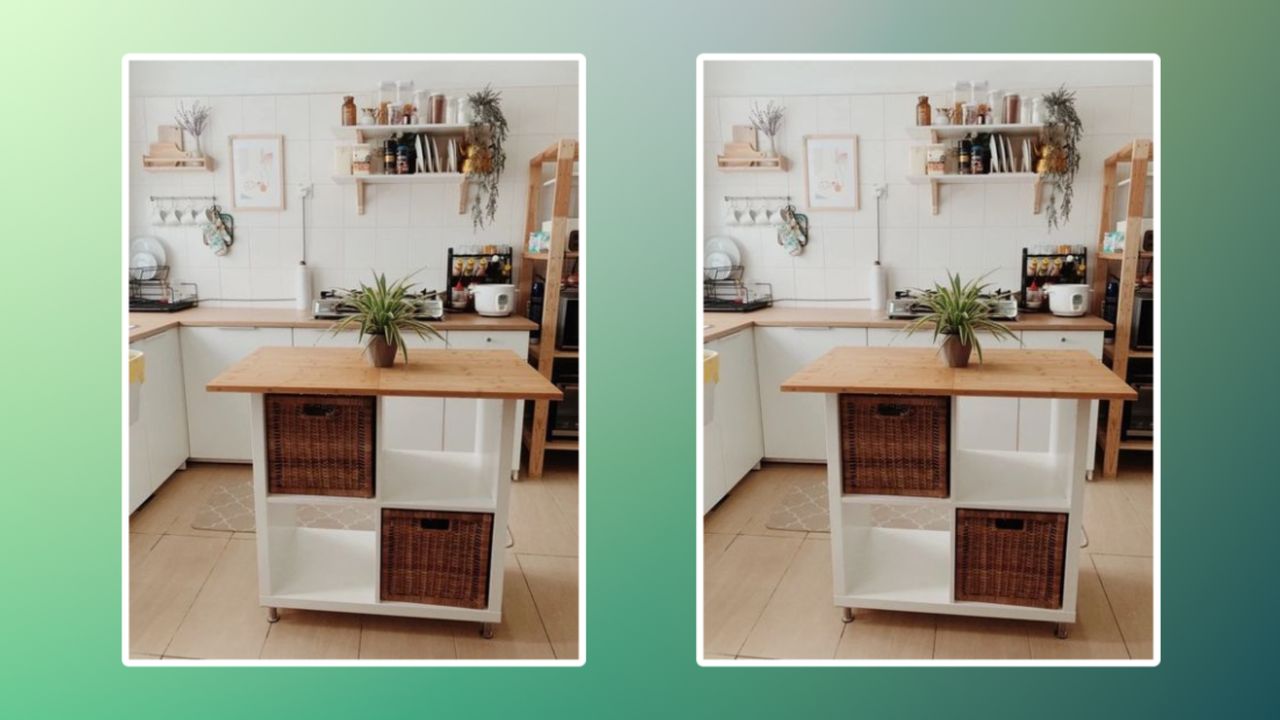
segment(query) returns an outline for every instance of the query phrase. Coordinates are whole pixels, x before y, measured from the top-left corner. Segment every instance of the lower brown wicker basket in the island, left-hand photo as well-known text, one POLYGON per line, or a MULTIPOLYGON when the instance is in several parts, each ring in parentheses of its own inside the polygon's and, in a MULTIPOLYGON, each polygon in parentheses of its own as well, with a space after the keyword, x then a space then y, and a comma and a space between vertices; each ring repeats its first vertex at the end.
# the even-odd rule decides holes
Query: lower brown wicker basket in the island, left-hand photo
POLYGON ((493 515, 383 510, 384 601, 489 606, 493 515))

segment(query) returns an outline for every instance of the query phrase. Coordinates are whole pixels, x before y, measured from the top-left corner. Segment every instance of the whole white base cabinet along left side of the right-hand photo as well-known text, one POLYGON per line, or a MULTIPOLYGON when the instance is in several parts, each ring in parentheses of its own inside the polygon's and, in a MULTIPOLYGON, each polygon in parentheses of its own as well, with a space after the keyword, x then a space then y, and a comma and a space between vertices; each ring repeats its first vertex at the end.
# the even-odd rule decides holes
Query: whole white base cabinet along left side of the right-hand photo
POLYGON ((746 329, 707 343, 719 354, 716 413, 703 425, 703 511, 716 506, 764 457, 755 333, 746 329))

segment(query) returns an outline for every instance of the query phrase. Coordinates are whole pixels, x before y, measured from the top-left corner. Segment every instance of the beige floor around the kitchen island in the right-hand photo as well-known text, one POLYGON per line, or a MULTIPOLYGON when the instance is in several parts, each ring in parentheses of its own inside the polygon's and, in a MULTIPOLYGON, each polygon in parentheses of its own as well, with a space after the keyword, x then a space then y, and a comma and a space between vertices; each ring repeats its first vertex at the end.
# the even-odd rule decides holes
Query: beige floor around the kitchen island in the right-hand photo
POLYGON ((708 659, 1149 659, 1152 478, 1123 457, 1116 479, 1084 491, 1078 620, 1048 623, 859 610, 844 624, 831 596, 831 536, 765 527, 794 478, 822 465, 768 464, 704 520, 708 659))

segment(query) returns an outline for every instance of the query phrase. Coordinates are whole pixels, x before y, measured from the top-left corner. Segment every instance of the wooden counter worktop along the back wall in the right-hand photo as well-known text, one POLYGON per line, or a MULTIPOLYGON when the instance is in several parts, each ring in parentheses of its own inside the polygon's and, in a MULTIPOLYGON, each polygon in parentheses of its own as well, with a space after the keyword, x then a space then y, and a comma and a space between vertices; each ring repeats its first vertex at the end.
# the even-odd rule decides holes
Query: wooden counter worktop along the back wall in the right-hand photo
MULTIPOLYGON (((703 313, 703 342, 728 337, 750 327, 901 329, 909 323, 910 320, 891 320, 883 313, 860 307, 765 307, 754 313, 703 313)), ((1007 324, 1014 332, 1111 329, 1111 323, 1097 315, 1059 318, 1050 313, 1023 313, 1007 324)))

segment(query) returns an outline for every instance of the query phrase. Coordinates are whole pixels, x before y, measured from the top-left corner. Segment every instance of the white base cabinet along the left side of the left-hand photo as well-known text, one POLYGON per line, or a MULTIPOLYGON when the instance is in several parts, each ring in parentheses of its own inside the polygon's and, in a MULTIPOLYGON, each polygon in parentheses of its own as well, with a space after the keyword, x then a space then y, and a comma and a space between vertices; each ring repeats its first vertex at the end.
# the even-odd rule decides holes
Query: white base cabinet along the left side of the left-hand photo
POLYGON ((129 425, 129 512, 187 461, 187 402, 178 331, 129 346, 143 354, 138 420, 129 425))

